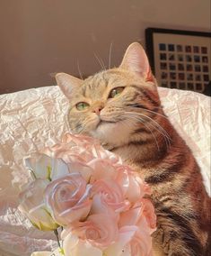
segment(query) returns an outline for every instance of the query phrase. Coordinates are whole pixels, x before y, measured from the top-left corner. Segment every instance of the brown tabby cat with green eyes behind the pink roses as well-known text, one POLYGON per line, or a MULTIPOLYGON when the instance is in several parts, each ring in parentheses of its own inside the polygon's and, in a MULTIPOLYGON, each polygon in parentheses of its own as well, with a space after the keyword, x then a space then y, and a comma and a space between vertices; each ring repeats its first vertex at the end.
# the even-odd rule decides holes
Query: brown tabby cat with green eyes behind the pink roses
POLYGON ((99 139, 152 187, 154 255, 208 255, 210 198, 198 163, 163 112, 142 46, 132 43, 119 68, 56 79, 69 99, 71 132, 99 139))

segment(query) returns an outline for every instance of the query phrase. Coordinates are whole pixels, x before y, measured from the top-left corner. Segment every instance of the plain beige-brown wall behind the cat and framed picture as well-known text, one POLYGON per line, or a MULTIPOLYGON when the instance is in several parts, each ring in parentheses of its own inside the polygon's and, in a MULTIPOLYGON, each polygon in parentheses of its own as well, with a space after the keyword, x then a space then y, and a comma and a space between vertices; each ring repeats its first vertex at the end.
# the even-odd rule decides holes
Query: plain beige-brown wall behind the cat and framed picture
POLYGON ((210 0, 1 0, 0 93, 54 83, 49 74, 119 65, 146 27, 210 30, 210 0))

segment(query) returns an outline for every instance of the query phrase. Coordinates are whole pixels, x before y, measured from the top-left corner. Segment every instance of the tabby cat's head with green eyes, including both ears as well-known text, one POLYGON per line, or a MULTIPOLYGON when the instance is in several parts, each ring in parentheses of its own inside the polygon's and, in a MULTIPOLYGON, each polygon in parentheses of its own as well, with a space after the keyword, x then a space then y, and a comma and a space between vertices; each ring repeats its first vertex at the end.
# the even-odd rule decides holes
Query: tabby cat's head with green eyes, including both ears
POLYGON ((71 132, 98 138, 102 144, 129 142, 140 125, 145 127, 144 115, 150 116, 154 105, 160 105, 145 50, 137 42, 127 48, 119 68, 84 80, 65 73, 56 79, 69 99, 71 132))

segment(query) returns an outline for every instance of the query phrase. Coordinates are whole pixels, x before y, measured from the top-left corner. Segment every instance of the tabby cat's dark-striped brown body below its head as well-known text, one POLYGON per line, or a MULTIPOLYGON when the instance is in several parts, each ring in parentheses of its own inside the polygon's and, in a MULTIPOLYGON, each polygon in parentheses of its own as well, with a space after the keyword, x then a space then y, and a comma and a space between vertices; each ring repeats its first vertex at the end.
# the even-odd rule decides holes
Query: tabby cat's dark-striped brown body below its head
POLYGON ((112 151, 119 154, 132 169, 139 171, 153 189, 151 198, 158 223, 154 233, 154 255, 208 256, 210 202, 198 164, 171 124, 159 118, 171 137, 168 147, 166 142, 159 143, 163 144, 163 148, 157 151, 153 141, 152 144, 145 144, 141 138, 136 138, 129 146, 112 151), (152 153, 154 151, 157 153, 152 153))

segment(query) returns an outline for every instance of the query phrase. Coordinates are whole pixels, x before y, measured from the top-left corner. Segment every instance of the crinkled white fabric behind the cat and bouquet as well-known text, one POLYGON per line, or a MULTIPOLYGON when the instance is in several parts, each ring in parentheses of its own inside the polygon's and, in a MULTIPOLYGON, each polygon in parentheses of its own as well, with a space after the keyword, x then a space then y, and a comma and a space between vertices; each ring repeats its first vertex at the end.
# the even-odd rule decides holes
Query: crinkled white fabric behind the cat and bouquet
MULTIPOLYGON (((189 91, 159 88, 171 123, 189 144, 210 180, 210 98, 189 91)), ((33 228, 17 210, 17 181, 25 178, 23 157, 59 142, 68 131, 68 102, 58 87, 40 87, 0 96, 0 256, 30 255, 57 246, 52 233, 33 228), (13 180, 13 174, 16 180, 13 180), (19 177, 19 178, 18 178, 19 177)))

